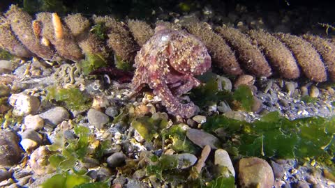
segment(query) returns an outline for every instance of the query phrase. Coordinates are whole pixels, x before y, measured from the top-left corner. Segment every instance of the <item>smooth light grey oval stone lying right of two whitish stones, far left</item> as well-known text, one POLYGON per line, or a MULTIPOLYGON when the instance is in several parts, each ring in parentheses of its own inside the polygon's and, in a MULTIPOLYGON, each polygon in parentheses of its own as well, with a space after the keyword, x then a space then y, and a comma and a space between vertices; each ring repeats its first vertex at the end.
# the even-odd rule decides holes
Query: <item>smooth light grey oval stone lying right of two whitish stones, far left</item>
POLYGON ((52 126, 56 126, 64 120, 68 120, 70 114, 64 107, 54 107, 39 116, 45 120, 45 123, 49 123, 52 126))

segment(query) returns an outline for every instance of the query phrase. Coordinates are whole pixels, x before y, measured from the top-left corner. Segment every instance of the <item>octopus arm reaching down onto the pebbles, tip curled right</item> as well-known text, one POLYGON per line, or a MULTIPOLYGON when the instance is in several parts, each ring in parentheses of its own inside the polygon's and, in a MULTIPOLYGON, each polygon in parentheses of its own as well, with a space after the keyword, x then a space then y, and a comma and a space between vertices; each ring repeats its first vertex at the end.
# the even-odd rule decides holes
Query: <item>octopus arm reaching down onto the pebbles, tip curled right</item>
POLYGON ((187 104, 181 103, 177 97, 172 95, 167 84, 160 82, 150 85, 150 87, 154 90, 154 94, 161 98, 163 105, 165 105, 169 113, 183 118, 190 118, 194 115, 195 105, 193 102, 187 104))

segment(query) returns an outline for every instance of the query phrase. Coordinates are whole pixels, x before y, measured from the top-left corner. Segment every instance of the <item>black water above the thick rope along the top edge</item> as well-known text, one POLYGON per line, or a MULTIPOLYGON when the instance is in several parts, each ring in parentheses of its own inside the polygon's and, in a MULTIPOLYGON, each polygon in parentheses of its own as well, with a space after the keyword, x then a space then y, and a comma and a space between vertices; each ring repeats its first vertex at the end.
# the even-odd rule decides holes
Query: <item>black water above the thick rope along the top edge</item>
MULTIPOLYGON (((313 27, 318 27, 318 23, 335 25, 335 1, 325 0, 1 0, 0 11, 6 11, 12 3, 18 4, 31 14, 50 11, 59 15, 68 13, 82 13, 87 16, 112 15, 119 19, 145 19, 151 23, 158 19, 174 22, 176 18, 180 19, 184 15, 193 14, 200 21, 210 24, 222 25, 232 22, 236 26, 238 22, 248 24, 248 19, 257 20, 258 17, 262 17, 270 31, 271 29, 276 31, 273 28, 281 23, 285 15, 288 15, 288 23, 285 23, 285 26, 289 29, 283 32, 292 34, 311 31, 313 27), (226 19, 238 11, 237 7, 245 7, 247 11, 236 13, 238 15, 236 20, 226 19)), ((334 30, 329 30, 329 33, 334 34, 334 30)))

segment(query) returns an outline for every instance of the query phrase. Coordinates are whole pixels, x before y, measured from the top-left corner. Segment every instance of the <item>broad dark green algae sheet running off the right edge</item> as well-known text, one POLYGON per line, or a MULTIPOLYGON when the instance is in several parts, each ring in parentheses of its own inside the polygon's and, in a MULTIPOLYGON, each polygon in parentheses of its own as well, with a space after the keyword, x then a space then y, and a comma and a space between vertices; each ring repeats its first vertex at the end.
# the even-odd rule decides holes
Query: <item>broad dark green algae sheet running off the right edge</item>
MULTIPOLYGON (((309 157, 320 164, 334 159, 335 117, 288 120, 278 112, 270 112, 260 120, 247 123, 211 116, 203 129, 211 133, 223 129, 226 134, 219 137, 225 140, 224 148, 232 155, 301 160, 309 157)), ((326 167, 334 171, 334 165, 326 167)))

